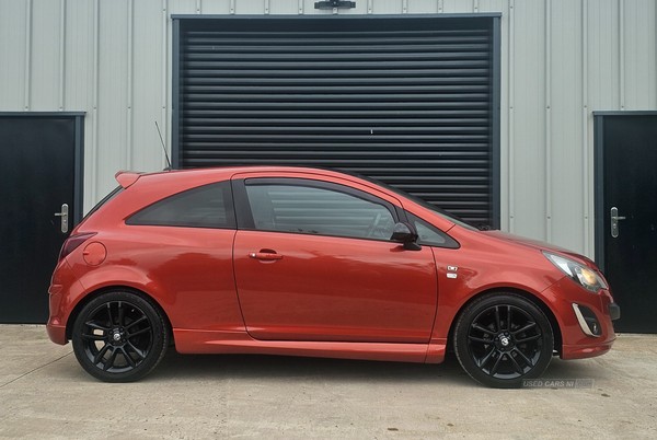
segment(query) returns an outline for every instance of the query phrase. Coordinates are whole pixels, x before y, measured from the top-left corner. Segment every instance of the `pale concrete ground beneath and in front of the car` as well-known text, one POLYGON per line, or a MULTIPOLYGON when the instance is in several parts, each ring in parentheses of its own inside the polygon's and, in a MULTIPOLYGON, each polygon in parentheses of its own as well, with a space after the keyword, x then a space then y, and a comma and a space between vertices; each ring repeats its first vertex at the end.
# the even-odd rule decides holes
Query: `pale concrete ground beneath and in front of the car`
POLYGON ((442 364, 170 349, 140 382, 102 383, 43 326, 0 325, 0 439, 656 439, 657 336, 553 359, 588 389, 491 390, 442 364))

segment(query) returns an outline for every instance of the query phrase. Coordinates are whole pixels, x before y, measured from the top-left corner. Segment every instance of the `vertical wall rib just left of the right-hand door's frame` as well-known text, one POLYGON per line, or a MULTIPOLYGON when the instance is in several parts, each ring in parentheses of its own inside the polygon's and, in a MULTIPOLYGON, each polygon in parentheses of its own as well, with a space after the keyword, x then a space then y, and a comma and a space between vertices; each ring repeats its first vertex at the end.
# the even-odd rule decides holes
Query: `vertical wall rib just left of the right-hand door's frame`
POLYGON ((581 0, 581 106, 584 127, 581 129, 583 173, 581 189, 584 193, 584 252, 592 255, 589 240, 589 144, 588 144, 588 0, 581 0))

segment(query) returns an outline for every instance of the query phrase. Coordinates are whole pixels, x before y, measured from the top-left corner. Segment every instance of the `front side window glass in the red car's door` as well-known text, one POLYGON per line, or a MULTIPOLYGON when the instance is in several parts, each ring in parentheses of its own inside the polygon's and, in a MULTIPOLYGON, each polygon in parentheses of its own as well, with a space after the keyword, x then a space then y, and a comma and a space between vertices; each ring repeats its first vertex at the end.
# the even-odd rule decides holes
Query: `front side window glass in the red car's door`
POLYGON ((389 240, 394 219, 380 204, 326 188, 247 185, 256 230, 389 240))

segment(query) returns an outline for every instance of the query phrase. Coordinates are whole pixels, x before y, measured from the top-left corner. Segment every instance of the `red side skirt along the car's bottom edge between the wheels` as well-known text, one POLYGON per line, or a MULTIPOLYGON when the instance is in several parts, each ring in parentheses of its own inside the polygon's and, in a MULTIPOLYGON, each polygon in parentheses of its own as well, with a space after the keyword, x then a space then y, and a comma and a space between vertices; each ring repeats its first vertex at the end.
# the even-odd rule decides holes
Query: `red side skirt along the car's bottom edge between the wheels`
POLYGON ((174 329, 181 354, 249 354, 439 363, 446 339, 429 344, 327 343, 308 340, 257 340, 246 332, 174 329))

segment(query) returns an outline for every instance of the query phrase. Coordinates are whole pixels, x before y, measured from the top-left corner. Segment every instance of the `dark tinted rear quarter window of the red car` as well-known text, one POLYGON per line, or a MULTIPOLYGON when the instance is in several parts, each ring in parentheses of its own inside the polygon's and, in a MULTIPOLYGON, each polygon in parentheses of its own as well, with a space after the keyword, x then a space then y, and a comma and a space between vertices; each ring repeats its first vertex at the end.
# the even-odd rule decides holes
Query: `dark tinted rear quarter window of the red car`
POLYGON ((234 228, 230 183, 219 182, 166 197, 132 215, 126 224, 234 228))

